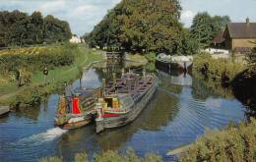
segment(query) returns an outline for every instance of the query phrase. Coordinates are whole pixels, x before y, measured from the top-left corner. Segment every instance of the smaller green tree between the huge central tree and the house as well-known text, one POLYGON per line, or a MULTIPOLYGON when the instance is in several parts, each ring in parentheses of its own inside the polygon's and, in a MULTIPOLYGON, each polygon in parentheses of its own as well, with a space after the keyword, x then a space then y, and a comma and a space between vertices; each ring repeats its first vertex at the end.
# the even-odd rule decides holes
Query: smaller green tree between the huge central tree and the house
POLYGON ((207 12, 198 13, 191 26, 191 35, 201 47, 209 47, 211 41, 230 23, 228 16, 211 17, 207 12))

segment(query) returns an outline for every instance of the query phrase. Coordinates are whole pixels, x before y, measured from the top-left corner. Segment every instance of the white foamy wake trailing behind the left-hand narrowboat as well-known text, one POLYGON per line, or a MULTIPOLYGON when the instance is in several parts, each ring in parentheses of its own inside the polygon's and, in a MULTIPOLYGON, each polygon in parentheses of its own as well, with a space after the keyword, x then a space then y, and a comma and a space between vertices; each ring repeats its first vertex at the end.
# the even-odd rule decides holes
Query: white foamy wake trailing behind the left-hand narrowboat
POLYGON ((44 142, 51 141, 67 132, 68 132, 67 130, 62 130, 60 128, 53 128, 53 129, 47 130, 45 133, 22 138, 18 142, 15 142, 14 144, 29 144, 30 143, 30 145, 31 144, 39 145, 44 142))

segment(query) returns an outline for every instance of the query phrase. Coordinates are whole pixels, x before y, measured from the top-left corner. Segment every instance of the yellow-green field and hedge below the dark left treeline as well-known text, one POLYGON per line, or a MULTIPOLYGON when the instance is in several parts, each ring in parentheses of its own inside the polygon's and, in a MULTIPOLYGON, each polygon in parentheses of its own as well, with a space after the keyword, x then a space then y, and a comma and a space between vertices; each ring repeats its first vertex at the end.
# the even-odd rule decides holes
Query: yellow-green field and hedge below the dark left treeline
POLYGON ((76 45, 66 44, 57 47, 30 47, 0 51, 0 74, 26 69, 28 72, 42 71, 44 67, 71 65, 77 52, 76 45))

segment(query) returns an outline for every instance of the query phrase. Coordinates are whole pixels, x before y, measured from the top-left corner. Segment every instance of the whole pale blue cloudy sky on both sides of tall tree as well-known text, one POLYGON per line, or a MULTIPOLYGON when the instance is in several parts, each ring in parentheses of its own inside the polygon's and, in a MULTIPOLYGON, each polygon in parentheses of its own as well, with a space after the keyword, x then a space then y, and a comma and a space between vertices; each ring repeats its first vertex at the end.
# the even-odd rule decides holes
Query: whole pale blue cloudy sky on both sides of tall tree
MULTIPOLYGON (((53 15, 70 24, 73 33, 90 32, 108 10, 121 0, 0 0, 0 11, 20 10, 32 14, 40 11, 43 16, 53 15)), ((256 22, 256 0, 180 0, 181 22, 190 27, 198 12, 228 15, 232 22, 245 22, 247 17, 256 22)))

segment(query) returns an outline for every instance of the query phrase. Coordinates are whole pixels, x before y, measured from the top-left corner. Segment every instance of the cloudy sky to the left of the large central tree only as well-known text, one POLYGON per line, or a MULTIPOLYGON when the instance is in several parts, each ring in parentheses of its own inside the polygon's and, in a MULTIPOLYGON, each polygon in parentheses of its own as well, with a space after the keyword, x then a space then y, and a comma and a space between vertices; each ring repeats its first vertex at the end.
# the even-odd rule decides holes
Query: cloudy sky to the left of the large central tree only
POLYGON ((83 35, 91 31, 121 0, 0 0, 0 10, 20 10, 43 16, 53 15, 70 24, 73 33, 83 35))

